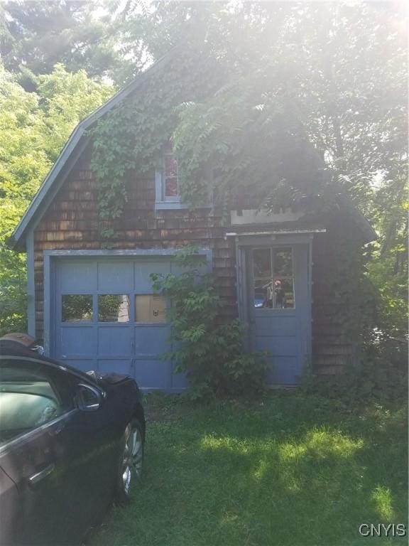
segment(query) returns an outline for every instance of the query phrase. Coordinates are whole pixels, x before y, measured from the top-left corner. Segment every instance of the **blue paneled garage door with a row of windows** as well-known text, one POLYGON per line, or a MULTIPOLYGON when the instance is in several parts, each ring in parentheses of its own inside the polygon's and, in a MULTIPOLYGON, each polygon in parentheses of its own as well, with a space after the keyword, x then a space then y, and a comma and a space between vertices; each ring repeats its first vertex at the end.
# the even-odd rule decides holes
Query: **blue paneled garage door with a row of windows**
POLYGON ((169 257, 56 260, 55 358, 84 371, 129 374, 146 389, 185 387, 160 358, 169 349, 168 302, 153 294, 149 279, 170 272, 169 257))

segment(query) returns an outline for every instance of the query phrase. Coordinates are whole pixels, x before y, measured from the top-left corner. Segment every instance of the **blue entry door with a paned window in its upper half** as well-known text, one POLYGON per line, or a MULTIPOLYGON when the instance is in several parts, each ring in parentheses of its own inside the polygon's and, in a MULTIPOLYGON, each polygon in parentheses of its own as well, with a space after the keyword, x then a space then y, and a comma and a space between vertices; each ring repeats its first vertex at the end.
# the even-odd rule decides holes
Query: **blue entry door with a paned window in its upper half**
POLYGON ((247 252, 251 348, 269 351, 271 384, 295 385, 310 353, 309 245, 247 252))

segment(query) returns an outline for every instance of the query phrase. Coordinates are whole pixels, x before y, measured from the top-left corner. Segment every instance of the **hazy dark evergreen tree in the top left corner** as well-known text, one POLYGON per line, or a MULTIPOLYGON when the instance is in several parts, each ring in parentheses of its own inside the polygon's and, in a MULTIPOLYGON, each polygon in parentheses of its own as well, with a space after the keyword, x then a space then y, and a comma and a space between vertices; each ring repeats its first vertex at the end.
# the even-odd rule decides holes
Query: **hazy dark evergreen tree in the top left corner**
POLYGON ((19 73, 23 87, 35 88, 28 72, 50 74, 56 63, 97 79, 129 62, 117 47, 109 17, 99 16, 101 0, 6 0, 0 6, 1 58, 19 73))

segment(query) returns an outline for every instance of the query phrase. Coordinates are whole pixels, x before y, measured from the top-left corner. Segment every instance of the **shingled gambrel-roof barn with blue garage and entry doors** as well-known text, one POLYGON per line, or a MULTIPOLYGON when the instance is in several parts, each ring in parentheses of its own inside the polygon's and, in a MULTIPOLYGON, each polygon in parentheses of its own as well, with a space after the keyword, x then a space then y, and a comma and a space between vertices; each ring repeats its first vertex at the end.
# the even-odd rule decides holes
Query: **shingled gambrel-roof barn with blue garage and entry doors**
POLYGON ((185 378, 160 358, 167 302, 153 294, 149 274, 177 273, 175 249, 195 244, 227 301, 224 314, 249 325, 252 349, 271 351, 271 384, 296 385, 309 362, 317 373, 337 373, 356 346, 337 321, 347 301, 331 289, 329 264, 342 260, 340 240, 361 247, 375 237, 348 198, 316 217, 302 208, 258 211, 244 198, 230 203, 223 225, 212 203, 191 210, 180 201, 168 153, 162 169, 126 173, 116 237, 109 249, 102 241, 88 129, 138 92, 151 70, 77 126, 13 234, 11 246, 27 253, 28 333, 62 363, 127 373, 145 389, 182 390, 185 378))

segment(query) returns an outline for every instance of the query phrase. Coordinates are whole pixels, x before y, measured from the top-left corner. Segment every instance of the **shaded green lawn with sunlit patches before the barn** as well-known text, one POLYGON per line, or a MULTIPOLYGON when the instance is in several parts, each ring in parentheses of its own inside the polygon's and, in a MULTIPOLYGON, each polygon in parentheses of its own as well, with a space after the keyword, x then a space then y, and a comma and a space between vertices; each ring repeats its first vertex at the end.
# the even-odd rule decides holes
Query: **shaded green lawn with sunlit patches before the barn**
POLYGON ((405 410, 365 412, 298 393, 147 402, 145 476, 92 546, 403 544, 361 523, 408 523, 405 410))

